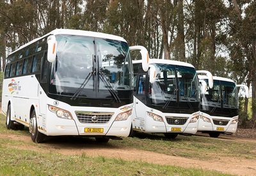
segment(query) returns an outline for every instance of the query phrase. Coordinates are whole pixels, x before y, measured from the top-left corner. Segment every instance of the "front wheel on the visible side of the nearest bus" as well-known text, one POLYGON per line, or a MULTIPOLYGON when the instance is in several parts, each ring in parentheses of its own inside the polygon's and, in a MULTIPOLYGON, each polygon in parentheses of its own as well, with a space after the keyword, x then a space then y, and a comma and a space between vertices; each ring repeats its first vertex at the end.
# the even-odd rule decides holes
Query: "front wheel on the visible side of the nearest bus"
POLYGON ((31 140, 35 143, 41 143, 44 141, 44 134, 38 131, 37 129, 37 121, 36 121, 36 112, 35 109, 31 114, 31 118, 29 120, 29 132, 31 133, 31 140))

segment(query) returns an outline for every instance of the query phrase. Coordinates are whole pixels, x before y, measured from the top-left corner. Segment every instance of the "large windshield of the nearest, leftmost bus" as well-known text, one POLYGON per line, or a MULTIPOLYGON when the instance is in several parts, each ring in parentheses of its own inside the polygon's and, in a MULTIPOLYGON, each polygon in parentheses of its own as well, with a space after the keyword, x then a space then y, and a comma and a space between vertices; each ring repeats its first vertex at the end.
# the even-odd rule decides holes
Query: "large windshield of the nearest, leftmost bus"
POLYGON ((118 92, 131 91, 132 64, 126 42, 76 35, 57 35, 56 40, 49 93, 74 96, 78 91, 77 97, 118 100, 126 96, 118 92))

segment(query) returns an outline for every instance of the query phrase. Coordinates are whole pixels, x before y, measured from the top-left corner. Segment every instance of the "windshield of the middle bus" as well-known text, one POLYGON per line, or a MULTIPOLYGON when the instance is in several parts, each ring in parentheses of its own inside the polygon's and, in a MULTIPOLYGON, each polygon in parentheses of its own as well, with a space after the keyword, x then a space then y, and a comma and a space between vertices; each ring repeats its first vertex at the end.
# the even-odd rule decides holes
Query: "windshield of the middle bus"
MULTIPOLYGON (((154 104, 177 106, 177 102, 198 102, 198 78, 195 68, 180 65, 154 64, 156 81, 150 84, 148 96, 154 104)), ((180 105, 179 105, 180 106, 180 105)), ((185 106, 185 105, 184 105, 185 106)))

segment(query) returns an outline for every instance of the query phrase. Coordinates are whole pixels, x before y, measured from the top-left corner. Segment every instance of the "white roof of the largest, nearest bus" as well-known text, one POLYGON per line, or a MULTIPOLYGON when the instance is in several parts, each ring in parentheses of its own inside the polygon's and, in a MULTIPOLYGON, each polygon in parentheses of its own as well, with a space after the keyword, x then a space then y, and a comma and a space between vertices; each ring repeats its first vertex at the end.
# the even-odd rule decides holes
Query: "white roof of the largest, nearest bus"
MULTIPOLYGON (((31 40, 30 42, 28 42, 27 44, 24 44, 22 46, 19 47, 19 49, 13 51, 19 51, 20 49, 33 44, 34 42, 45 38, 45 36, 49 36, 49 35, 80 35, 80 36, 92 36, 92 37, 97 37, 97 38, 108 38, 111 40, 118 40, 118 41, 122 41, 122 42, 127 42, 124 38, 122 38, 121 36, 116 36, 116 35, 110 35, 110 34, 106 34, 106 33, 98 33, 98 32, 93 32, 93 31, 83 31, 83 30, 77 30, 77 29, 54 29, 53 31, 47 33, 44 36, 41 36, 39 38, 35 38, 34 40, 31 40)), ((13 53, 12 52, 12 53, 13 53)), ((12 54, 10 53, 10 54, 12 54)))

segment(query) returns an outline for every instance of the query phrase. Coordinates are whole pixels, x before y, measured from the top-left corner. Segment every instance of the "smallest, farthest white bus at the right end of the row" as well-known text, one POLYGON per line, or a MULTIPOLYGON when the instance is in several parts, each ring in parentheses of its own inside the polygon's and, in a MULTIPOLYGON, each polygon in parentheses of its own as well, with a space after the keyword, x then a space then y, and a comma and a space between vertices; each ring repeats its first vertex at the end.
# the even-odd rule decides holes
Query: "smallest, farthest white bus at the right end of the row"
POLYGON ((248 97, 248 86, 213 76, 213 86, 209 88, 207 77, 200 74, 198 77, 207 84, 205 93, 202 93, 198 131, 208 133, 212 138, 218 138, 220 134, 233 134, 238 124, 237 87, 243 86, 248 97))

